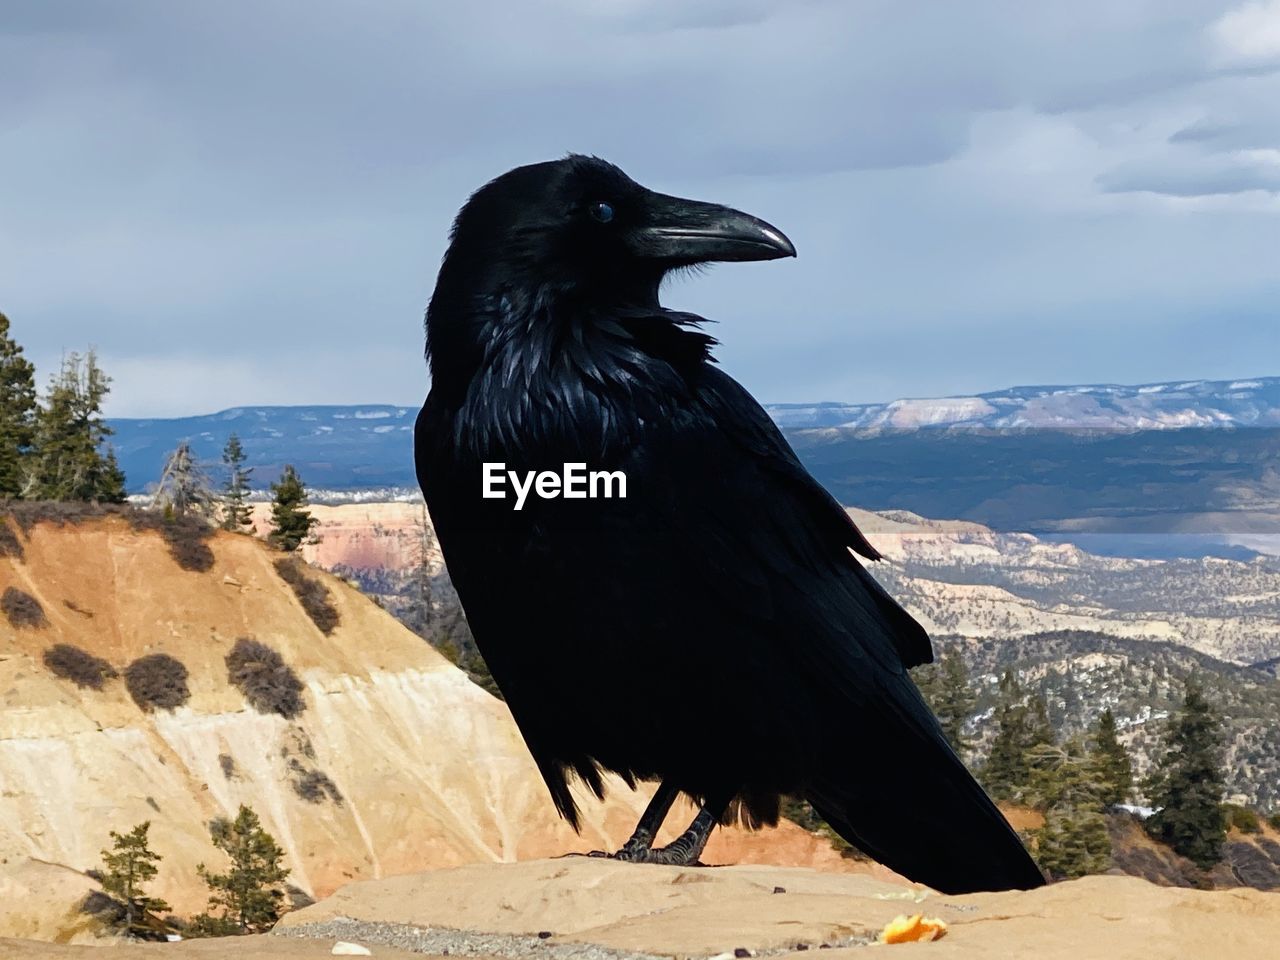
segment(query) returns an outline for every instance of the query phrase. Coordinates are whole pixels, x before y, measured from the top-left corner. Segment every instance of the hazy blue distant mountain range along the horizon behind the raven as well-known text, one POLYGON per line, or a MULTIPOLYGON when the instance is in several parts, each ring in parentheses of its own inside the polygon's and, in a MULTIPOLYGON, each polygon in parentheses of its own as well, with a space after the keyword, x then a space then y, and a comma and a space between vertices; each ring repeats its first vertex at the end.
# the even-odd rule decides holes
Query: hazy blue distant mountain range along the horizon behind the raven
MULTIPOLYGON (((1016 387, 768 411, 846 506, 1129 554, 1239 556, 1240 544, 1280 543, 1280 378, 1016 387), (1088 539, 1098 535, 1120 543, 1088 539)), ((293 463, 319 500, 387 500, 416 492, 416 413, 379 404, 237 407, 111 426, 133 493, 154 483, 180 440, 216 465, 234 431, 260 490, 293 463)))

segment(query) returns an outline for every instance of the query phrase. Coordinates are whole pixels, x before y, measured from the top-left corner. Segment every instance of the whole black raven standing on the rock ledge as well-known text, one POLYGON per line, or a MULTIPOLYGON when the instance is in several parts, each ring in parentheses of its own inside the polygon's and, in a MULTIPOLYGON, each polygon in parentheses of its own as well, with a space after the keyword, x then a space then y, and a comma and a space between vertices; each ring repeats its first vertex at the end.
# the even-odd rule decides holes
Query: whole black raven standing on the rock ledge
POLYGON ((658 302, 672 270, 788 256, 763 220, 594 157, 467 201, 415 452, 476 644, 575 827, 571 778, 659 781, 620 859, 695 863, 716 823, 792 795, 937 890, 1038 886, 908 675, 932 648, 854 557, 876 549, 701 317, 658 302), (678 794, 701 810, 654 849, 678 794))

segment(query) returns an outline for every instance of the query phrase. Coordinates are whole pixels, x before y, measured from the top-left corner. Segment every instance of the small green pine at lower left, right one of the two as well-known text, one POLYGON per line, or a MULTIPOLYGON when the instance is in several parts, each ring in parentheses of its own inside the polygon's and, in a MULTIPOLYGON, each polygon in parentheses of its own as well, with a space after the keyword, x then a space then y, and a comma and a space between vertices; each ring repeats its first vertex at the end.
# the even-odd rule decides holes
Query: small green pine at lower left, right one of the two
POLYGON ((234 820, 212 820, 209 835, 214 846, 230 858, 230 869, 214 873, 205 864, 196 868, 209 884, 210 911, 221 911, 220 916, 196 918, 197 927, 216 931, 234 925, 239 933, 270 929, 280 918, 282 884, 289 876, 280 865, 284 859, 280 845, 262 829, 257 814, 243 804, 234 820))

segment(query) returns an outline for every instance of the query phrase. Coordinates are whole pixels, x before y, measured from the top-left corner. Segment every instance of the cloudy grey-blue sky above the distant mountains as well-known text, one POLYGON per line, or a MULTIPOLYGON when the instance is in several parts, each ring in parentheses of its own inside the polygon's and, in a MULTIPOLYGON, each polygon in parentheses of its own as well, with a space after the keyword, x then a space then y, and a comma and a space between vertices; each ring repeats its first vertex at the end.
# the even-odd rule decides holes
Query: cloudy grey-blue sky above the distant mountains
POLYGON ((114 416, 420 403, 449 223, 604 156, 764 402, 1280 374, 1280 0, 4 0, 0 311, 114 416))

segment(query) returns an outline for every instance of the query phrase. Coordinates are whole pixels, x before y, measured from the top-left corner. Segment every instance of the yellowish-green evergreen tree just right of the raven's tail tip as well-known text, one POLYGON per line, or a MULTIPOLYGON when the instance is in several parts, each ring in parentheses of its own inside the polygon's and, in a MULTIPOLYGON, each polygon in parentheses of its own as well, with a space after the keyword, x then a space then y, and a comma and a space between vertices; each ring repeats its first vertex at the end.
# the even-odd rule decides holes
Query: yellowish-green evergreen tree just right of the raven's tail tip
POLYGON ((1027 754, 1032 790, 1044 812, 1036 831, 1036 859, 1055 879, 1102 873, 1111 865, 1103 815, 1103 783, 1078 741, 1041 744, 1027 754))

